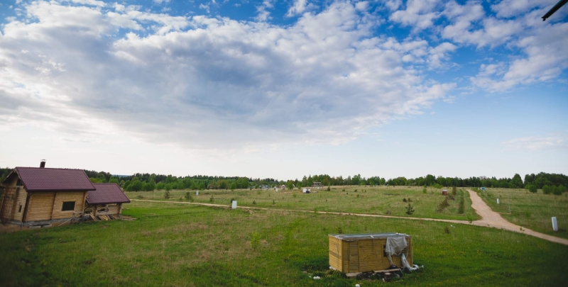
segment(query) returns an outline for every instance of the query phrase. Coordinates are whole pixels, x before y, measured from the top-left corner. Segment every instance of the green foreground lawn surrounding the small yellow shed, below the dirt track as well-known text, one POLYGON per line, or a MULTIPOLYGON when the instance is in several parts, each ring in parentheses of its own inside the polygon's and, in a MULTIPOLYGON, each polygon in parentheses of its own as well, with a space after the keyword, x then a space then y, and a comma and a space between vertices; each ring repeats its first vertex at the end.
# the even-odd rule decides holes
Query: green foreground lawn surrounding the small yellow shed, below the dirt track
POLYGON ((144 202, 124 214, 137 219, 1 234, 0 285, 384 286, 329 273, 327 235, 337 232, 413 235, 425 268, 392 286, 568 282, 567 246, 494 228, 144 202))

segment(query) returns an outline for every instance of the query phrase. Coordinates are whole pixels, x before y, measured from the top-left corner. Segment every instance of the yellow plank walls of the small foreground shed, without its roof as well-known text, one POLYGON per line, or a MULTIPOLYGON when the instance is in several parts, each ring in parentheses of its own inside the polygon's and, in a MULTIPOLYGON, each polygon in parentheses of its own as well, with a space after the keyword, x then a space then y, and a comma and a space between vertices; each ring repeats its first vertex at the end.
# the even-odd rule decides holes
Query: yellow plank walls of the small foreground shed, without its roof
MULTIPOLYGON (((408 263, 413 264, 412 237, 408 237, 408 263)), ((376 240, 343 241, 329 237, 329 266, 344 273, 386 270, 391 266, 388 257, 384 256, 386 238, 376 240)), ((396 266, 402 266, 400 256, 392 257, 396 266)))

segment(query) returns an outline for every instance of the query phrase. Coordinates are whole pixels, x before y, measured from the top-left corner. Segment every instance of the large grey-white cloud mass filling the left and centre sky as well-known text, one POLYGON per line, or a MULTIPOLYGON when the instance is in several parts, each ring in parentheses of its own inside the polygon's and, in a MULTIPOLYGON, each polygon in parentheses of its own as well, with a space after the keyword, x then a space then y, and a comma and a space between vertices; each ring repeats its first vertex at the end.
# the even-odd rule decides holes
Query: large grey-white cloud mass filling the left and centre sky
POLYGON ((26 13, 38 21, 0 34, 4 126, 197 149, 337 144, 422 113, 455 87, 401 60, 432 62, 452 47, 374 37, 378 19, 349 3, 284 28, 45 1, 26 13))

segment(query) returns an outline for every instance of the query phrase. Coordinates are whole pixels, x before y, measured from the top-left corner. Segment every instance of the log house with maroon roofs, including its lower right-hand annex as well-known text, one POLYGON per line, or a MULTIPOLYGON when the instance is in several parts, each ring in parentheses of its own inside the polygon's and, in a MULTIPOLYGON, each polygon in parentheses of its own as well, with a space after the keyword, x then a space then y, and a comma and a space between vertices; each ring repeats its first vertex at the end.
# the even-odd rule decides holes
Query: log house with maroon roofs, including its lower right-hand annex
POLYGON ((101 185, 99 191, 81 169, 48 169, 45 161, 40 167, 16 167, 1 182, 4 196, 0 204, 2 223, 27 223, 38 221, 80 218, 87 207, 116 205, 108 211, 120 212, 121 203, 129 202, 126 196, 116 192, 118 186, 101 185), (111 191, 109 191, 111 190, 111 191), (124 197, 121 197, 124 196, 124 197), (92 197, 92 199, 91 199, 92 197))

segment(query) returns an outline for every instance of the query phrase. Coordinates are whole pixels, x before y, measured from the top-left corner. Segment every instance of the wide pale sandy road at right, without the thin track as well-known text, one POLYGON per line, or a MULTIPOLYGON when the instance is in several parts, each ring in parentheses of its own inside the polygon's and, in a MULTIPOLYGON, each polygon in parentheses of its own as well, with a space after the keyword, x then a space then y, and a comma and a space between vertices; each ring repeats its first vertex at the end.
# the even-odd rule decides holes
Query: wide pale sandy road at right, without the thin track
MULTIPOLYGON (((476 220, 472 224, 478 226, 488 226, 502 228, 505 230, 510 230, 514 232, 521 232, 520 226, 508 222, 505 218, 502 218, 499 213, 493 211, 487 203, 477 195, 475 191, 467 190, 469 192, 469 198, 471 198, 471 207, 474 208, 477 214, 481 215, 481 220, 476 220)), ((560 237, 555 237, 552 235, 545 235, 544 233, 536 232, 530 229, 523 228, 523 233, 531 235, 534 237, 542 238, 543 240, 548 240, 551 242, 557 242, 560 244, 568 245, 568 240, 560 237)))

